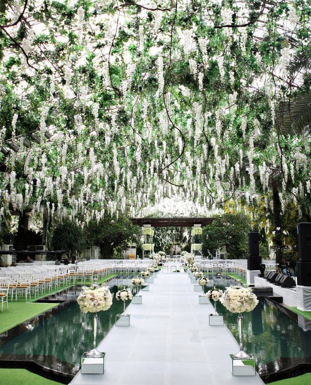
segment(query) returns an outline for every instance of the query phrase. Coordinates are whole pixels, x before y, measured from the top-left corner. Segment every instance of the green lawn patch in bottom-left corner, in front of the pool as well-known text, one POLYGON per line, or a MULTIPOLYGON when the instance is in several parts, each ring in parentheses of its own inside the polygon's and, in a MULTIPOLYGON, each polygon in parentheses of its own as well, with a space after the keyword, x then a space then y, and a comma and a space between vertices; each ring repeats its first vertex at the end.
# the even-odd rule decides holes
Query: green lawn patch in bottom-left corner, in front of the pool
POLYGON ((6 385, 59 385, 26 369, 0 369, 0 383, 6 385))

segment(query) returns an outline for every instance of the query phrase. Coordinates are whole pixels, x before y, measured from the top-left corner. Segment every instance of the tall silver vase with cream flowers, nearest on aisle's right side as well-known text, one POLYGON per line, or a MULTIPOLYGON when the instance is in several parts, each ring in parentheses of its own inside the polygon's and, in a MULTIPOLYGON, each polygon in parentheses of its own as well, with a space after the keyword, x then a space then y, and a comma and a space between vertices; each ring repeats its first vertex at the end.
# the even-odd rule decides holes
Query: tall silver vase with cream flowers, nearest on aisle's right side
POLYGON ((222 298, 219 300, 225 308, 232 313, 238 313, 238 333, 240 340, 240 350, 234 354, 234 358, 249 359, 251 354, 247 354, 243 351, 242 341, 242 313, 251 312, 258 304, 256 295, 251 291, 249 287, 243 286, 230 286, 224 292, 222 298))

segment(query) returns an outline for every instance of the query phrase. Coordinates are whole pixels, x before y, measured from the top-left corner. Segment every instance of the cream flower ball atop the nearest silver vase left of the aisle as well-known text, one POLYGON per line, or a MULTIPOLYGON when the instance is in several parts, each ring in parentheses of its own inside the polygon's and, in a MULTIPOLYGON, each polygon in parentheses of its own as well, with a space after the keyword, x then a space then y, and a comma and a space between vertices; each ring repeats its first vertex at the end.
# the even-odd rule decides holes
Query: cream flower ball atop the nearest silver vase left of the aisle
POLYGON ((106 286, 90 286, 82 290, 77 302, 83 313, 97 313, 110 308, 112 294, 106 286))

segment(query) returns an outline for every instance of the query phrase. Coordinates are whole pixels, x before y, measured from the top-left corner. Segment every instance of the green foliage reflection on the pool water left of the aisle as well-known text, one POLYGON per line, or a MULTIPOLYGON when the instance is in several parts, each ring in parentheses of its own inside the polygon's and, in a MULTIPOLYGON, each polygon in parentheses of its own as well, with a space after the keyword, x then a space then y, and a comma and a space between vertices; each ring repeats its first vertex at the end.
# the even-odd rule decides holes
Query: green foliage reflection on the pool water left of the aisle
MULTIPOLYGON (((114 293, 112 306, 98 313, 97 343, 113 326, 115 315, 123 311, 123 303, 115 299, 117 290, 117 286, 110 287, 114 293)), ((79 364, 82 353, 92 347, 92 318, 92 314, 82 313, 77 303, 72 303, 35 325, 32 331, 26 331, 0 346, 0 353, 27 355, 28 358, 32 355, 55 356, 61 361, 79 364)))

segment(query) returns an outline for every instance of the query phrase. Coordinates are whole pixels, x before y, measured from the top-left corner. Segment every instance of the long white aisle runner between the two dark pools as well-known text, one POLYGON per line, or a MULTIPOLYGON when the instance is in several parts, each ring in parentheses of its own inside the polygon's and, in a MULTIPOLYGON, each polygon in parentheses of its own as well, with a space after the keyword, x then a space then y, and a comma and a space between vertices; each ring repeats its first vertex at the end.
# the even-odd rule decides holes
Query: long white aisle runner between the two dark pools
POLYGON ((99 344, 106 371, 79 372, 74 385, 263 384, 256 376, 232 376, 229 353, 238 345, 226 326, 209 326, 211 305, 185 273, 159 273, 142 305, 131 304, 129 327, 113 326, 99 344))

